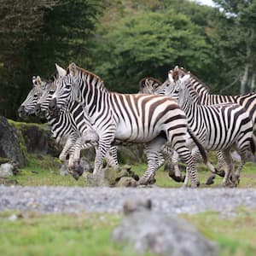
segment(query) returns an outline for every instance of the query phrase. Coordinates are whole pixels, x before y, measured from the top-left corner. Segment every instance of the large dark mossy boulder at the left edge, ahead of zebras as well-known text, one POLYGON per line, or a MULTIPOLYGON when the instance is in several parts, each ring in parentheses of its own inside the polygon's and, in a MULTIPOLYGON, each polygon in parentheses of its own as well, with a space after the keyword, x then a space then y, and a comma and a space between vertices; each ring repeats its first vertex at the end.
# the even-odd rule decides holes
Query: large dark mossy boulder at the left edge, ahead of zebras
POLYGON ((21 132, 3 116, 0 116, 0 157, 12 160, 20 167, 27 163, 26 144, 21 132))

